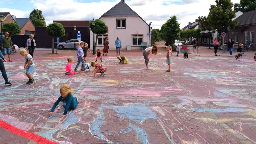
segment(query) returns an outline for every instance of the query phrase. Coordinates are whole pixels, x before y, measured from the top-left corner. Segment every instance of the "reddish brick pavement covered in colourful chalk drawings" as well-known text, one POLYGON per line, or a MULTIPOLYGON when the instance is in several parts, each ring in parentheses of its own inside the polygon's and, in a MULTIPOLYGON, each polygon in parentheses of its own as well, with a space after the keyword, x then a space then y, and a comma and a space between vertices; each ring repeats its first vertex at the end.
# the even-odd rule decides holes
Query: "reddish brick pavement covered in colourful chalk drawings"
POLYGON ((142 51, 123 51, 129 63, 121 65, 110 52, 103 58, 106 75, 92 78, 91 72, 64 74, 67 56, 76 65, 73 50, 38 50, 35 83, 26 85, 24 59, 15 53, 5 63, 13 85, 0 83, 0 120, 7 123, 0 124, 0 143, 256 143, 254 52, 238 62, 199 47, 200 56, 173 56, 171 72, 165 72, 165 54, 160 48, 150 55, 151 70, 145 70, 142 51), (73 88, 79 105, 64 119, 63 107, 49 118, 63 84, 73 88))

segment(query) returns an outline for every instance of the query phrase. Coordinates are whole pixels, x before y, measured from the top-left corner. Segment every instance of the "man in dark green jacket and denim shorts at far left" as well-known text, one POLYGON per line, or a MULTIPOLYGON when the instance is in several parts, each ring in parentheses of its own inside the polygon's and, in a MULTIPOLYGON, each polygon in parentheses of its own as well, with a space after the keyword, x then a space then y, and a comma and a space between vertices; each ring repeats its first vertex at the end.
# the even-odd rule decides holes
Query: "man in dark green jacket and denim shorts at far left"
POLYGON ((9 37, 9 33, 4 33, 5 37, 2 37, 1 39, 1 49, 4 50, 4 56, 7 54, 9 61, 11 60, 11 47, 12 47, 12 39, 9 37))

